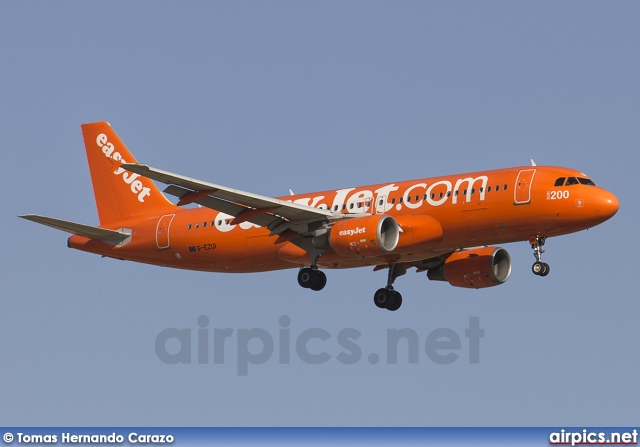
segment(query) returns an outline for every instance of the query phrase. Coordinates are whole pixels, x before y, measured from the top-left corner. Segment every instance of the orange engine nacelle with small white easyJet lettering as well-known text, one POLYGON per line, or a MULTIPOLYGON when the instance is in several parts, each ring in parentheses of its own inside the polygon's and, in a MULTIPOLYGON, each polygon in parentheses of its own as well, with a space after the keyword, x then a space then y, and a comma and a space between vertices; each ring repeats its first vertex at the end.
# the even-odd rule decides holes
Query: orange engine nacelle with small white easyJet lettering
POLYGON ((396 220, 380 214, 336 222, 329 232, 329 245, 339 255, 366 258, 393 251, 399 238, 396 220))

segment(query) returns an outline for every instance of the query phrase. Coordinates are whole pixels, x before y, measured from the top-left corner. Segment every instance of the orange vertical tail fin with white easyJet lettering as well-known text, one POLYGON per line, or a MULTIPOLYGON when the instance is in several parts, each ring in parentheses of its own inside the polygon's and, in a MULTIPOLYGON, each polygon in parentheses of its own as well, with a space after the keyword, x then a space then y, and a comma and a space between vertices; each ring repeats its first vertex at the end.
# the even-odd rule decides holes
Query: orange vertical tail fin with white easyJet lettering
POLYGON ((137 215, 175 212, 176 206, 151 179, 120 167, 137 162, 109 123, 81 127, 100 225, 137 215))

